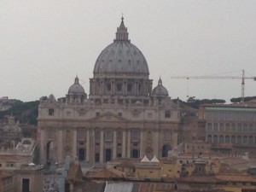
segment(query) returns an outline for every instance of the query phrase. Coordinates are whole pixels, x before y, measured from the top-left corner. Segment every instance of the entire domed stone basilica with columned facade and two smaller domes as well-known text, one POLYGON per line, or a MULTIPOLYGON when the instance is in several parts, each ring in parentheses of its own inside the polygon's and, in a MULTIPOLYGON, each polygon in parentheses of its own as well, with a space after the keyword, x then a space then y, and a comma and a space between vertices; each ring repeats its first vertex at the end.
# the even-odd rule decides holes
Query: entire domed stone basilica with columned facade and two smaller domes
POLYGON ((122 18, 113 43, 96 59, 88 96, 76 77, 67 96, 40 99, 40 163, 61 163, 67 155, 93 165, 166 157, 177 147, 180 108, 161 79, 152 86, 148 63, 122 18))

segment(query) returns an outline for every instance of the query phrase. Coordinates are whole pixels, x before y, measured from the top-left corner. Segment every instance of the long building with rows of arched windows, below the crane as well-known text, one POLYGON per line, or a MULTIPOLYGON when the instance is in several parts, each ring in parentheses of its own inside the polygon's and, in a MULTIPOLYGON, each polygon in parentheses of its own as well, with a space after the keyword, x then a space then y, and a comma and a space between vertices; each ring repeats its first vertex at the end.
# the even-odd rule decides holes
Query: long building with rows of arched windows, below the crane
POLYGON ((205 120, 206 142, 220 153, 256 157, 256 105, 203 105, 199 119, 205 120))

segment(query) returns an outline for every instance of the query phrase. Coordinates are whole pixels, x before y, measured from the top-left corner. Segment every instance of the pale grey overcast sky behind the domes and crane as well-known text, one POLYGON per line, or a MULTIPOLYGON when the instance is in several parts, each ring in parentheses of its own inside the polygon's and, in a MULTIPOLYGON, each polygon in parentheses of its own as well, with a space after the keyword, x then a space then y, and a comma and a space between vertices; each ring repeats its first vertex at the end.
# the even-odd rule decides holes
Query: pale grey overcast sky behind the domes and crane
MULTIPOLYGON (((241 96, 241 80, 171 76, 241 76, 242 69, 256 76, 255 0, 1 0, 0 97, 66 96, 77 74, 89 93, 96 58, 122 13, 154 86, 161 77, 172 98, 229 101, 241 96)), ((256 96, 256 82, 245 86, 256 96)))

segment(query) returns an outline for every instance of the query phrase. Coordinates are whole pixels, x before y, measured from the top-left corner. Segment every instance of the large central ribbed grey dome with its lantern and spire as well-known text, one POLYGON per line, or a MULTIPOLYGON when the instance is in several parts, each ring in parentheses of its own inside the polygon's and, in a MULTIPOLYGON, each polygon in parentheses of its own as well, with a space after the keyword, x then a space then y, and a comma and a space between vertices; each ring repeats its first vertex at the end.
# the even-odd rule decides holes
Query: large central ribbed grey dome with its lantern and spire
POLYGON ((116 32, 116 39, 98 56, 94 67, 95 75, 142 74, 147 75, 148 63, 143 53, 128 39, 124 18, 116 32))

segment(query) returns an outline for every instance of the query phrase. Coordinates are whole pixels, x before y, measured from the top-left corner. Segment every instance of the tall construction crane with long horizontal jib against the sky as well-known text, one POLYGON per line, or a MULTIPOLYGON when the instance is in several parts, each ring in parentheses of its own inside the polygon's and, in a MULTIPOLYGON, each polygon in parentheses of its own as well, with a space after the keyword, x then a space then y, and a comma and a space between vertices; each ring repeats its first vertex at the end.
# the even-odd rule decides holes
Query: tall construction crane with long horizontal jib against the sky
POLYGON ((241 71, 241 76, 217 76, 217 75, 205 75, 205 76, 172 76, 171 79, 241 79, 241 102, 244 102, 244 90, 245 79, 253 79, 256 81, 256 77, 245 77, 244 70, 241 71))

